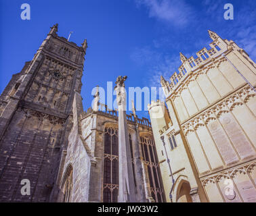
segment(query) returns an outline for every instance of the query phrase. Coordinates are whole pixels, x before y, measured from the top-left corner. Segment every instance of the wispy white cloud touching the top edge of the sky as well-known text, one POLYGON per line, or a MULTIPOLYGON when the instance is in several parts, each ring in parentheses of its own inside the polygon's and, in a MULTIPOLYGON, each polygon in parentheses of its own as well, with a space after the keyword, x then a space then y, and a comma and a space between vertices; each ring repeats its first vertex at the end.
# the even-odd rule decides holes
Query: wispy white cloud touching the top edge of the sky
POLYGON ((194 9, 184 0, 135 0, 135 3, 146 6, 150 17, 175 26, 188 24, 194 14, 194 9))

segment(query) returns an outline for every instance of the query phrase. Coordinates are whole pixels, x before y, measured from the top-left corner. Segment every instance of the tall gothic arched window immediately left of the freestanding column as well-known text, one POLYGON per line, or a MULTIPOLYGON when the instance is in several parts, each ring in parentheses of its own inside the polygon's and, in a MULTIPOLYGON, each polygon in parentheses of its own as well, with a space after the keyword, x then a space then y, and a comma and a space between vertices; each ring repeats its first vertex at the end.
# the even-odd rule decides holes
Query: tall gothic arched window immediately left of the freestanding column
POLYGON ((119 194, 119 140, 117 130, 105 128, 103 202, 117 202, 119 194))

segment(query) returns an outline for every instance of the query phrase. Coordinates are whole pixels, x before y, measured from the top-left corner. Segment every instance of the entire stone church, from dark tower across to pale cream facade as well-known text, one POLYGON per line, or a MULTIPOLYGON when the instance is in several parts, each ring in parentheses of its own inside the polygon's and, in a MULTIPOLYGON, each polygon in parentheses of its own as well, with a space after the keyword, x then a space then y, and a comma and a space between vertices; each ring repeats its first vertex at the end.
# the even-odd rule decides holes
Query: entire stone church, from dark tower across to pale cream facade
MULTIPOLYGON (((83 110, 87 41, 57 32, 0 96, 0 202, 117 202, 121 115, 99 91, 83 110)), ((137 202, 256 202, 256 65, 209 34, 211 49, 180 53, 179 74, 161 77, 166 100, 148 105, 151 122, 125 113, 137 202)))

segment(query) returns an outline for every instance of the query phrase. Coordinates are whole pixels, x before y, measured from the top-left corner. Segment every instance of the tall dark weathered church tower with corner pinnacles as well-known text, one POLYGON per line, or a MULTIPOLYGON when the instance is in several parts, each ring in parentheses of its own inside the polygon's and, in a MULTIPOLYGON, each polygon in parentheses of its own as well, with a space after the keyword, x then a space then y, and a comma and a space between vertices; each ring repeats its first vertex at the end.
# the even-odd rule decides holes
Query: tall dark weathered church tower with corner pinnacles
POLYGON ((54 202, 58 196, 87 41, 79 47, 57 32, 58 24, 1 94, 0 202, 54 202))

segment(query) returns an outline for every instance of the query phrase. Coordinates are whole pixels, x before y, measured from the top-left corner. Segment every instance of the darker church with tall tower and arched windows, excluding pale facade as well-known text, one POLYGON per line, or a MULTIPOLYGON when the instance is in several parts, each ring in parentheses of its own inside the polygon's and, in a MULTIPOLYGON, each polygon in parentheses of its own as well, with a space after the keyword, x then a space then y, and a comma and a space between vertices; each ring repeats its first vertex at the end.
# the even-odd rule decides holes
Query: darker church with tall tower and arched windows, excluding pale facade
MULTIPOLYGON (((51 27, 1 94, 0 202, 117 202, 118 112, 100 104, 98 92, 93 109, 83 111, 87 41, 79 47, 57 31, 58 24, 51 27), (29 180, 29 194, 22 195, 22 180, 29 180)), ((148 202, 165 202, 150 121, 133 114, 126 115, 132 168, 143 169, 135 188, 148 202)))

